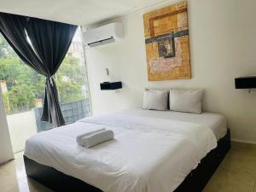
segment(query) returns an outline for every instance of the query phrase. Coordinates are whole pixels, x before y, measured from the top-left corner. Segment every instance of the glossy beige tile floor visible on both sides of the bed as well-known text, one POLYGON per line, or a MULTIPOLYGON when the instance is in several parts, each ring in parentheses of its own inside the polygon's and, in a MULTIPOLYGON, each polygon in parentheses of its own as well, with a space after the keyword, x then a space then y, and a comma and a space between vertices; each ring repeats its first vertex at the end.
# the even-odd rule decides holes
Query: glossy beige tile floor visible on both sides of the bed
MULTIPOLYGON (((22 152, 0 166, 1 192, 51 192, 26 177, 22 152)), ((232 148, 203 192, 256 192, 256 145, 232 143, 232 148)), ((193 191, 195 192, 195 191, 193 191)))

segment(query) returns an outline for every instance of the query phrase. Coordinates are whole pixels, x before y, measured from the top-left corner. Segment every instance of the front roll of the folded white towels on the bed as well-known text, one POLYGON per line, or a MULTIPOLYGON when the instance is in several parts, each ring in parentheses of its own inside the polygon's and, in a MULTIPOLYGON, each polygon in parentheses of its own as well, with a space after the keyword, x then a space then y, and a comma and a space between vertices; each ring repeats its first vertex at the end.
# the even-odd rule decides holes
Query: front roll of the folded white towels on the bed
POLYGON ((108 142, 109 140, 113 139, 113 131, 112 130, 105 130, 101 132, 96 132, 87 137, 81 138, 81 145, 84 148, 90 148, 97 144, 108 142))

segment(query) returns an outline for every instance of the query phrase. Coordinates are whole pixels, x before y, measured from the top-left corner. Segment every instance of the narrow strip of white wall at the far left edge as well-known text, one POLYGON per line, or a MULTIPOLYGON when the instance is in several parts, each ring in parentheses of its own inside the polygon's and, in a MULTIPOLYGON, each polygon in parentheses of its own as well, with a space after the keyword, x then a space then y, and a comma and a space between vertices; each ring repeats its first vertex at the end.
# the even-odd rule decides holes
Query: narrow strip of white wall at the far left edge
POLYGON ((0 89, 0 164, 14 158, 0 89))

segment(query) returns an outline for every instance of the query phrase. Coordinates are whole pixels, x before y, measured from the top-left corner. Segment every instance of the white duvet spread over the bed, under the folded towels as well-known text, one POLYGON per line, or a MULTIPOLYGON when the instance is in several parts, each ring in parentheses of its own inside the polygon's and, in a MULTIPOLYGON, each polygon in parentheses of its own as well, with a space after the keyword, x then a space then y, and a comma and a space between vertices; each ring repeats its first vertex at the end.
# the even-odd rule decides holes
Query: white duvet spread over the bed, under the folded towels
POLYGON ((116 113, 38 133, 26 141, 25 155, 105 192, 171 192, 216 146, 205 125, 116 113), (102 127, 114 140, 94 148, 76 143, 102 127))

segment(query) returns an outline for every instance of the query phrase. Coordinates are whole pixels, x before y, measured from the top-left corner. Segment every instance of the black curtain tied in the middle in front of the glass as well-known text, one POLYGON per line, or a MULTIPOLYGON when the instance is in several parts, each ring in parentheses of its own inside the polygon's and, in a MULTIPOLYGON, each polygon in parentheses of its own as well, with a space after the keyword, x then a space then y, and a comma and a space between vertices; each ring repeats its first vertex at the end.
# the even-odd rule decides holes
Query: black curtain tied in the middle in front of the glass
POLYGON ((0 13, 0 32, 29 67, 46 77, 42 120, 65 125, 53 76, 72 43, 78 26, 0 13), (31 44, 28 42, 30 39, 31 44))

